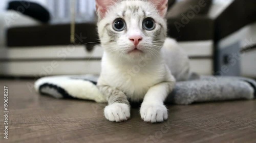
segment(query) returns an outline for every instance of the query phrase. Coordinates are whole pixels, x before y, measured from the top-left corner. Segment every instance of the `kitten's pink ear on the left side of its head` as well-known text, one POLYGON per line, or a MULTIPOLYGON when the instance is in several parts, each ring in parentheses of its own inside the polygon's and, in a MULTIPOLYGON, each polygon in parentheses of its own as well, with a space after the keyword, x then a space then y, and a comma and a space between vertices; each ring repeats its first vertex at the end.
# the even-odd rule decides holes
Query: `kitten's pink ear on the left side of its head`
POLYGON ((96 0, 96 11, 100 18, 103 18, 110 6, 114 5, 118 0, 96 0))

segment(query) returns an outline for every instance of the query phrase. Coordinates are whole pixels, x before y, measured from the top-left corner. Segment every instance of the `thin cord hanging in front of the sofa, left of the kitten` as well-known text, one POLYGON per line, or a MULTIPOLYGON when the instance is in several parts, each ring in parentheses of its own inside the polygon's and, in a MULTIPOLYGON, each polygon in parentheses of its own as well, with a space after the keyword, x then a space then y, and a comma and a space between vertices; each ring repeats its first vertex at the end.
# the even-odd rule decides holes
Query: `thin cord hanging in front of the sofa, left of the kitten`
POLYGON ((71 0, 71 31, 70 42, 75 43, 75 28, 76 28, 76 0, 71 0))

